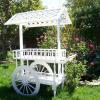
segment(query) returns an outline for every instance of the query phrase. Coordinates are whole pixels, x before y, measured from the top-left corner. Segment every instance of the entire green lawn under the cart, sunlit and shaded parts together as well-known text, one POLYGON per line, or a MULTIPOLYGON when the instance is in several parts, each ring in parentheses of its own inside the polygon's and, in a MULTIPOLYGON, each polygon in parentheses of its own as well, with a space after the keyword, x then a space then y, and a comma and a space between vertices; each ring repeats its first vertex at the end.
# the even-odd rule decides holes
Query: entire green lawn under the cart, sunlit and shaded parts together
POLYGON ((100 100, 100 87, 80 86, 70 94, 66 89, 58 88, 57 96, 53 97, 50 87, 41 86, 35 97, 24 97, 15 93, 11 85, 14 64, 0 65, 0 100, 100 100))

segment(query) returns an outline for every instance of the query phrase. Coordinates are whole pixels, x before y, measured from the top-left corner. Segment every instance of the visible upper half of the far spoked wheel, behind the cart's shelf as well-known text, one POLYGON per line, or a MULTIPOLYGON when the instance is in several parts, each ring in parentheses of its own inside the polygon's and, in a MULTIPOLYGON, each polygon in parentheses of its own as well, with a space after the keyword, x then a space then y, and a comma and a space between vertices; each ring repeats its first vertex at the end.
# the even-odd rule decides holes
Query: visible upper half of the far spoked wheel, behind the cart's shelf
POLYGON ((53 74, 51 67, 43 61, 32 62, 30 67, 36 72, 53 74))

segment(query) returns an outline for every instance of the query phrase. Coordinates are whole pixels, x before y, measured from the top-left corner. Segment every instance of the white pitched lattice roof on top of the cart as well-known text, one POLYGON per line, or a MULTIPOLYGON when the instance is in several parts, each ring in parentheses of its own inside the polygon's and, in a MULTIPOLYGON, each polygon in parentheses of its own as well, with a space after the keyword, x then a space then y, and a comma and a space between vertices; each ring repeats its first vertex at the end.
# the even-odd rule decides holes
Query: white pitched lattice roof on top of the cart
POLYGON ((71 24, 68 12, 63 9, 44 9, 17 13, 13 15, 5 25, 23 25, 25 27, 41 27, 71 24))

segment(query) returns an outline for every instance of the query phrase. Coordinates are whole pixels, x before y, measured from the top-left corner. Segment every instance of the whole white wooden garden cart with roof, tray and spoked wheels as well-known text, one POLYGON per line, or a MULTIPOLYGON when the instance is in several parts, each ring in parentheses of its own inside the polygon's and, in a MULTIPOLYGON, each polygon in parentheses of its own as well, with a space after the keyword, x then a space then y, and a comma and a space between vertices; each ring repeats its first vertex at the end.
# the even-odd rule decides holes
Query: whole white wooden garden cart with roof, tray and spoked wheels
POLYGON ((17 13, 5 23, 19 25, 20 49, 13 51, 16 69, 12 77, 13 88, 17 93, 36 95, 40 84, 45 84, 51 85, 56 95, 57 86, 64 84, 64 64, 75 57, 66 57, 66 50, 61 49, 60 26, 66 24, 71 24, 71 20, 65 8, 17 13), (23 48, 23 27, 43 26, 57 27, 57 49, 23 48))

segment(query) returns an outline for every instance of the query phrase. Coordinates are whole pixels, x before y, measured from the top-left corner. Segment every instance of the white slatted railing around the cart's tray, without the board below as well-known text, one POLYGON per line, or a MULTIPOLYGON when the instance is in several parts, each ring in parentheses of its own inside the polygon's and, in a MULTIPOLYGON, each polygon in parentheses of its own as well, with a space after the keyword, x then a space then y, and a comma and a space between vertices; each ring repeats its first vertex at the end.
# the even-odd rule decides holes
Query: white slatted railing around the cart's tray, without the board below
POLYGON ((23 49, 13 51, 14 59, 29 59, 29 58, 66 58, 66 49, 23 49))

